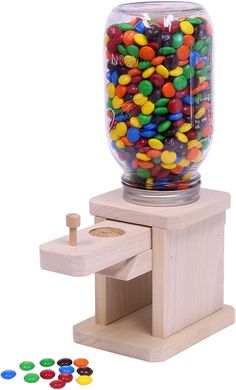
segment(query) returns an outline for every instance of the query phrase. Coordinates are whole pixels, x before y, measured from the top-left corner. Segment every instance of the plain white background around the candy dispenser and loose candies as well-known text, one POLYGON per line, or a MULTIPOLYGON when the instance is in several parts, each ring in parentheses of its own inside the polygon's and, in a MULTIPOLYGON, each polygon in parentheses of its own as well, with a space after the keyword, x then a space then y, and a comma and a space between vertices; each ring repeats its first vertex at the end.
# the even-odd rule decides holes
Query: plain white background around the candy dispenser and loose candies
MULTIPOLYGON (((72 325, 94 314, 93 276, 39 268, 38 246, 65 234, 65 214, 79 212, 83 227, 92 224, 89 198, 120 186, 105 138, 102 64, 103 29, 116 4, 0 0, 0 371, 22 360, 83 356, 94 389, 235 389, 235 326, 164 363, 82 347, 72 325)), ((203 186, 232 194, 225 302, 236 307, 235 18, 231 1, 203 5, 216 36, 216 128, 201 174, 203 186)), ((48 388, 17 373, 0 378, 0 387, 48 388)))

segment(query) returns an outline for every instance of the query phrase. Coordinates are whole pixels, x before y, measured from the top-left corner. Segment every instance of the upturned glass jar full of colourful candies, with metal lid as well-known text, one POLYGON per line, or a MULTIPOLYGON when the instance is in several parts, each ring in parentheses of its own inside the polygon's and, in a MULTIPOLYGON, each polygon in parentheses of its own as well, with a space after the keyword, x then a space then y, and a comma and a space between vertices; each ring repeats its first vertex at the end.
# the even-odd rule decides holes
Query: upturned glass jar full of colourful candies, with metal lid
POLYGON ((107 136, 124 198, 182 205, 200 193, 212 138, 212 28, 189 2, 122 4, 105 37, 107 136))

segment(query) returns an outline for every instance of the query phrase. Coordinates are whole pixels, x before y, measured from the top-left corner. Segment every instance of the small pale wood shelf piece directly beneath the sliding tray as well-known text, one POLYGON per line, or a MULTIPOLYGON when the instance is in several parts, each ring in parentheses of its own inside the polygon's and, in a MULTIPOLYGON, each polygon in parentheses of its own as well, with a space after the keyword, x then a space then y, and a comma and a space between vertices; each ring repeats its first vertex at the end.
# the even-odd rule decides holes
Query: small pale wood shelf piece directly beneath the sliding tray
POLYGON ((100 275, 117 280, 131 280, 152 270, 152 250, 140 253, 122 263, 105 268, 100 275))

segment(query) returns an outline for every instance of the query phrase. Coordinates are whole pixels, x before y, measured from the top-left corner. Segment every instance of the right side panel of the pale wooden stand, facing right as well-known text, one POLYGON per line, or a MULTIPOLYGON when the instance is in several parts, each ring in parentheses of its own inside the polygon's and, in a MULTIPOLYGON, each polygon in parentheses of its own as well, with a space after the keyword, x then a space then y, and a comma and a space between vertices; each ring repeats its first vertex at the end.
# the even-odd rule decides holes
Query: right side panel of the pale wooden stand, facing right
POLYGON ((225 213, 153 228, 152 335, 168 337, 223 307, 225 213))

